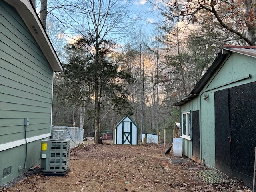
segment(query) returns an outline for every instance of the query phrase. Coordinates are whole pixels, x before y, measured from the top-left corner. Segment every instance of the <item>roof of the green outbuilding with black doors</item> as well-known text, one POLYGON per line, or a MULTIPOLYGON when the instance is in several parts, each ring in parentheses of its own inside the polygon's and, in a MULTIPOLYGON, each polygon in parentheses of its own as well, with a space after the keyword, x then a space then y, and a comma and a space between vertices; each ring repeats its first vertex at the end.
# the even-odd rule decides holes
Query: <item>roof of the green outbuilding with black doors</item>
POLYGON ((206 73, 202 76, 200 81, 196 84, 194 89, 190 92, 188 96, 183 98, 182 100, 179 100, 178 102, 172 104, 175 106, 181 106, 190 100, 193 100, 196 98, 199 93, 202 91, 208 80, 212 77, 212 75, 216 72, 216 70, 219 68, 219 66, 222 64, 222 62, 232 54, 232 52, 243 54, 246 56, 254 57, 256 58, 256 46, 234 46, 234 45, 224 45, 222 48, 222 51, 218 54, 218 56, 215 58, 212 65, 209 67, 209 69, 206 71, 206 73))

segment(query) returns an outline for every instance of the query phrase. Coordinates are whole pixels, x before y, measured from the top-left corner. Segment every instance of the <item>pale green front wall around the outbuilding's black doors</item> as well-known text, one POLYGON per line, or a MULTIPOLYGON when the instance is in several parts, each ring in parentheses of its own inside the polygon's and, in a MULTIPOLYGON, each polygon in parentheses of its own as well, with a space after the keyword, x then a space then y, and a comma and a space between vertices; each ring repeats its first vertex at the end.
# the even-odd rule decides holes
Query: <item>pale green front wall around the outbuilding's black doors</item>
POLYGON ((215 112, 214 92, 256 81, 256 59, 233 53, 220 69, 208 81, 200 93, 201 96, 201 160, 204 159, 210 168, 215 167, 215 112), (252 74, 251 79, 239 81, 252 74), (203 94, 209 95, 208 101, 203 94))

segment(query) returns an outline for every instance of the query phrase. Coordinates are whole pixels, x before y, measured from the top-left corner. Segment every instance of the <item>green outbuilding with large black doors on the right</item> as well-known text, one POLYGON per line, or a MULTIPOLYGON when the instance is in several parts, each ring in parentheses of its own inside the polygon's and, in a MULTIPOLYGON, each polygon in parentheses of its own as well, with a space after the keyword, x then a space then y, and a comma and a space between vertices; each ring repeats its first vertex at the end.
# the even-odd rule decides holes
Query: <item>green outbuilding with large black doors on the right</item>
POLYGON ((180 106, 183 154, 252 187, 256 46, 224 46, 180 106))

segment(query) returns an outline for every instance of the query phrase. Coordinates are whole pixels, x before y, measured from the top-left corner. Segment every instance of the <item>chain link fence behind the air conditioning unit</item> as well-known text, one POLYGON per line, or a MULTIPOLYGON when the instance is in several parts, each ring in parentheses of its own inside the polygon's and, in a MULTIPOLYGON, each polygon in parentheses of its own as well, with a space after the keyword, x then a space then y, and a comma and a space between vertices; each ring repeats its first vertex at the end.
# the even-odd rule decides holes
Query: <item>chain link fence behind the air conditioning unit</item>
POLYGON ((83 142, 84 129, 79 127, 54 126, 52 127, 53 139, 70 139, 70 148, 83 142))

